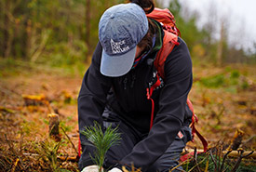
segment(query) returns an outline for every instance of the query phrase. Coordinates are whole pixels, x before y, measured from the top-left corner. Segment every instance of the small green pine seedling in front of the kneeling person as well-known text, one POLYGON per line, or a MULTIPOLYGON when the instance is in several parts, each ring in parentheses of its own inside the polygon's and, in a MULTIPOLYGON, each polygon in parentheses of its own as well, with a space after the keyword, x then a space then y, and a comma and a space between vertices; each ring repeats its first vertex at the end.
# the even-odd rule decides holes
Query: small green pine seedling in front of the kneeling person
POLYGON ((106 152, 110 147, 118 144, 121 139, 121 134, 117 132, 117 127, 118 126, 112 128, 110 125, 105 131, 102 131, 101 125, 94 122, 94 126, 86 126, 85 130, 81 132, 81 134, 83 134, 96 148, 94 157, 92 157, 91 154, 90 156, 96 165, 99 166, 99 172, 103 171, 102 165, 104 163, 106 152))

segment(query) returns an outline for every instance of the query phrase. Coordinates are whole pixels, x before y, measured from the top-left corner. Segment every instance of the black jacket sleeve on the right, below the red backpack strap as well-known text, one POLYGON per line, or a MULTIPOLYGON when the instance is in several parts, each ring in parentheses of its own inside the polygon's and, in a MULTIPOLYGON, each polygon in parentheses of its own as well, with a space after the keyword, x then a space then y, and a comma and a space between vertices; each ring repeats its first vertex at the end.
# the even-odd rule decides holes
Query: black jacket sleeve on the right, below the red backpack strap
POLYGON ((192 61, 187 46, 179 38, 165 62, 165 86, 159 98, 159 110, 147 138, 141 140, 122 161, 146 170, 159 158, 183 126, 187 95, 192 86, 192 61))

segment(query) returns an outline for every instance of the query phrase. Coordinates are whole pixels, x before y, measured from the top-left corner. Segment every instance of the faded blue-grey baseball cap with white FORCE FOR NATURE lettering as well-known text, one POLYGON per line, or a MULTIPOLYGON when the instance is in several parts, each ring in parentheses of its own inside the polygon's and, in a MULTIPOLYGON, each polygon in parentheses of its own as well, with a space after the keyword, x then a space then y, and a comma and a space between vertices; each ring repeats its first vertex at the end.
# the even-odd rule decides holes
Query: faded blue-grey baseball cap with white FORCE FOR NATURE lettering
POLYGON ((112 77, 128 73, 136 46, 147 32, 148 20, 140 6, 128 3, 108 8, 99 22, 101 73, 112 77))

